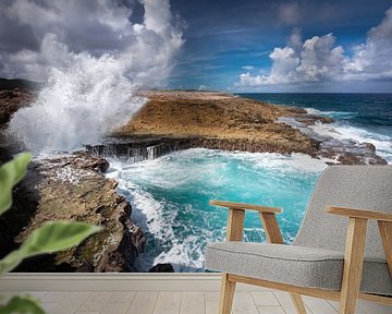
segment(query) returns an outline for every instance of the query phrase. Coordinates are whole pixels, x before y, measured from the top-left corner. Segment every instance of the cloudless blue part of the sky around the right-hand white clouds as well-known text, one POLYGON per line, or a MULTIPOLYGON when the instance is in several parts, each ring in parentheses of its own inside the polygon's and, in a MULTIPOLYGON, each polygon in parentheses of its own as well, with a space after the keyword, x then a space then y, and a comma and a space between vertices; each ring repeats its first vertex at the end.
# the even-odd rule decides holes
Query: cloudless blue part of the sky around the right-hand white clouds
MULTIPOLYGON (((173 88, 237 92, 392 92, 391 82, 305 82, 238 86, 238 76, 269 73, 269 55, 285 47, 294 32, 303 40, 332 33, 334 46, 352 58, 367 32, 379 25, 391 1, 186 1, 172 0, 186 23, 185 44, 170 80, 173 88), (253 67, 246 68, 243 67, 253 67), (348 90, 347 90, 348 88, 348 90)), ((392 39, 390 39, 392 40, 392 39)), ((390 80, 389 80, 390 81, 390 80)))

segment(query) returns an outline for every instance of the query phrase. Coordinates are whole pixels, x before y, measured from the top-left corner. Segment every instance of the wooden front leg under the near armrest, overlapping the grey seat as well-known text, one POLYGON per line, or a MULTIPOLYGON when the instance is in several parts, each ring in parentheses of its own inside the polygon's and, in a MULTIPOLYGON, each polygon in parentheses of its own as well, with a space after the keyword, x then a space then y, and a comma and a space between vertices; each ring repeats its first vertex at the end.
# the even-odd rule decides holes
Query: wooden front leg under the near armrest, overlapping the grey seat
POLYGON ((354 314, 364 266, 367 219, 350 218, 344 254, 340 314, 354 314))

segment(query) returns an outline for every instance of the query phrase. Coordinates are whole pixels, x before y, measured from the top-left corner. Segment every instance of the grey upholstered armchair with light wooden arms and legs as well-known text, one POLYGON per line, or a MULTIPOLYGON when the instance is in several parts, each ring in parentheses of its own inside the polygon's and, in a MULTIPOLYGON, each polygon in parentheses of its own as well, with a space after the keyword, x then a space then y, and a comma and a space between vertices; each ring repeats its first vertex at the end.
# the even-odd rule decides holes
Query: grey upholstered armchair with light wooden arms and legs
POLYGON ((391 166, 328 167, 292 245, 280 208, 210 204, 229 209, 226 241, 206 251, 207 268, 222 271, 220 314, 231 313, 236 282, 287 291, 298 314, 302 294, 340 301, 341 314, 354 314, 357 299, 392 305, 391 166), (269 244, 242 242, 245 210, 258 212, 269 244))

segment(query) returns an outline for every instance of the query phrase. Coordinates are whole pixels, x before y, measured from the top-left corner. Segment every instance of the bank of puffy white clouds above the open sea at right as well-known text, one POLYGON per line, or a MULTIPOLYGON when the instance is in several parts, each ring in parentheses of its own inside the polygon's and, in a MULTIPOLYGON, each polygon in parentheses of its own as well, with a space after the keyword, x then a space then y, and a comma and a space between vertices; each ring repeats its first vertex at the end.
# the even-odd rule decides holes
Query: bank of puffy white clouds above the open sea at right
POLYGON ((381 23, 367 34, 366 44, 354 47, 354 56, 335 45, 332 33, 302 40, 294 29, 287 46, 269 55, 269 73, 240 75, 237 86, 342 82, 392 78, 392 8, 381 23))

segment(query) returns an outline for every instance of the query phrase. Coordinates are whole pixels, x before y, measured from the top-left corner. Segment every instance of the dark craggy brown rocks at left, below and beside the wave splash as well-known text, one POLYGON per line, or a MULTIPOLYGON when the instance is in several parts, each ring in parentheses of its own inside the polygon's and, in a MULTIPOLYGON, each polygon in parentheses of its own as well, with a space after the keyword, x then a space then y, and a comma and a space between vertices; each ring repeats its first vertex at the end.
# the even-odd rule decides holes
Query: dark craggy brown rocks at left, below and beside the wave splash
MULTIPOLYGON (((0 165, 19 152, 3 133, 7 122, 34 93, 13 85, 0 90, 0 165)), ((107 160, 86 152, 35 159, 14 190, 13 207, 0 217, 0 257, 47 220, 86 221, 103 231, 72 250, 27 259, 15 271, 136 271, 146 238, 131 220, 132 207, 117 193, 118 183, 105 178, 108 168, 107 160)))

